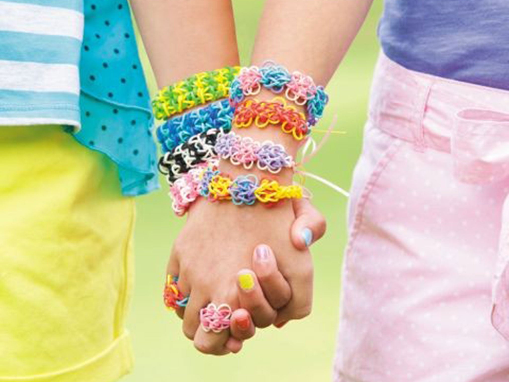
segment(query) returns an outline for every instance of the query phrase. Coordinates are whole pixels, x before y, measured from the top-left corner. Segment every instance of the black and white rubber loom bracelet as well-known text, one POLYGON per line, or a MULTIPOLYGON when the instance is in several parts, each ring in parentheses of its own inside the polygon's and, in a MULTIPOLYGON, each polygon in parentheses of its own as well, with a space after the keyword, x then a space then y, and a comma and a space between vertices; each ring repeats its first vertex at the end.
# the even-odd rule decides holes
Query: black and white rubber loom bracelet
POLYGON ((189 170, 217 157, 215 145, 221 129, 209 129, 193 135, 174 150, 164 153, 159 159, 159 172, 166 176, 169 185, 189 170))

